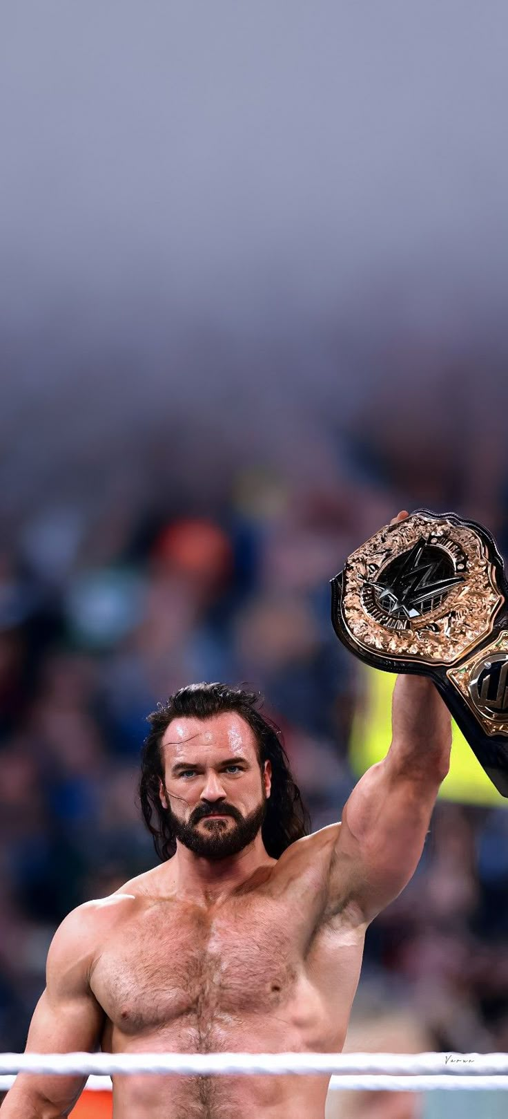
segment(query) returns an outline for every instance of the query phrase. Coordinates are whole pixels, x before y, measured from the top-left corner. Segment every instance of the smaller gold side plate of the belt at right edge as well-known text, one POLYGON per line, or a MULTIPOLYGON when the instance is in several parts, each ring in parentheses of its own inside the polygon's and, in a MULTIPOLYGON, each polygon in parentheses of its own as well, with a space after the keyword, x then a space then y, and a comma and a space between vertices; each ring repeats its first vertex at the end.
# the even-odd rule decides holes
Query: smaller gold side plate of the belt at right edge
POLYGON ((447 676, 486 734, 508 736, 508 630, 501 630, 460 668, 449 668, 447 676))

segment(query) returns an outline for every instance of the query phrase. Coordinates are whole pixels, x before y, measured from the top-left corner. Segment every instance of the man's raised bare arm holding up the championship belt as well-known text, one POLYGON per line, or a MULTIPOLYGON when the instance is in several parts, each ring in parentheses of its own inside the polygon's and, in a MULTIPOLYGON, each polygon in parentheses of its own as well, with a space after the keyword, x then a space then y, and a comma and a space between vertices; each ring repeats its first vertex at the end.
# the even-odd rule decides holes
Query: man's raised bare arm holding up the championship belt
POLYGON ((429 679, 397 678, 392 726, 386 758, 345 805, 332 861, 328 911, 349 906, 366 923, 413 876, 450 764, 450 715, 429 679))

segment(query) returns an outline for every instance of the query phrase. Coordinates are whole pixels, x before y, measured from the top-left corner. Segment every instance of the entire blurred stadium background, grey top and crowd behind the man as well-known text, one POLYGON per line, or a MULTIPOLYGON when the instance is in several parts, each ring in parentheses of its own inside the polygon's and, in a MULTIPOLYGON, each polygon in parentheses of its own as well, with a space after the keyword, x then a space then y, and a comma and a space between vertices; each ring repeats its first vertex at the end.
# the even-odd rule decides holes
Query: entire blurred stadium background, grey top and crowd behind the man
MULTIPOLYGON (((402 507, 507 549, 508 13, 0 21, 0 1049, 21 1050, 57 923, 154 862, 157 699, 259 688, 323 827, 389 746, 393 683, 339 647, 328 580, 402 507)), ((508 814, 460 743, 453 767, 368 930, 356 1047, 508 1050, 508 814)))

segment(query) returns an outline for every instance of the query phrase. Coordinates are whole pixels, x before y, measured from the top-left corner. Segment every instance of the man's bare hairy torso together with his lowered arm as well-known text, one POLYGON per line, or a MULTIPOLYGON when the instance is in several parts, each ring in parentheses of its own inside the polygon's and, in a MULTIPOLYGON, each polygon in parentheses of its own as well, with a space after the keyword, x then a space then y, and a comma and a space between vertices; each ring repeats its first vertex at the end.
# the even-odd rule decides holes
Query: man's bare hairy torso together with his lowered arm
MULTIPOLYGON (((170 861, 79 906, 54 941, 28 1049, 100 1042, 113 1053, 339 1052, 366 928, 354 905, 334 913, 328 903, 339 827, 298 840, 278 861, 265 855, 217 901, 182 896, 170 861)), ((327 1083, 116 1076, 114 1117, 323 1119, 327 1083)), ((6 1119, 67 1115, 82 1088, 78 1078, 20 1075, 2 1111, 6 1119), (21 1090, 36 1081, 46 1102, 31 1111, 21 1090)))

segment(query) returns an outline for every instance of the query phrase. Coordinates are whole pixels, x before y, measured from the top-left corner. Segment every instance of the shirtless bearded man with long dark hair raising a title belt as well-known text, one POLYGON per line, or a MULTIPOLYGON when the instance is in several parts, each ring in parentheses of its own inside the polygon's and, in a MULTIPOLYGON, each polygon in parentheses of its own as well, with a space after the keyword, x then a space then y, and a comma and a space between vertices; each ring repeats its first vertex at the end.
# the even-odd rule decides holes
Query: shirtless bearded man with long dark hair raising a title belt
MULTIPOLYGON (((422 853, 450 717, 428 679, 400 677, 386 758, 358 781, 342 824, 308 836, 300 826, 295 839, 296 787, 272 728, 266 756, 265 721, 245 696, 195 686, 152 716, 160 775, 145 773, 142 805, 165 861, 61 923, 28 1051, 341 1052, 365 930, 422 853), (164 716, 182 709, 199 714, 164 716), (291 825, 278 835, 274 817, 268 828, 277 789, 291 825)), ((2 1119, 67 1116, 85 1080, 18 1075, 2 1119)), ((323 1119, 327 1084, 118 1075, 114 1116, 323 1119)))

